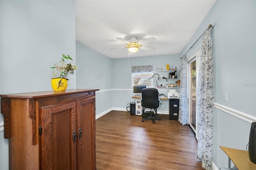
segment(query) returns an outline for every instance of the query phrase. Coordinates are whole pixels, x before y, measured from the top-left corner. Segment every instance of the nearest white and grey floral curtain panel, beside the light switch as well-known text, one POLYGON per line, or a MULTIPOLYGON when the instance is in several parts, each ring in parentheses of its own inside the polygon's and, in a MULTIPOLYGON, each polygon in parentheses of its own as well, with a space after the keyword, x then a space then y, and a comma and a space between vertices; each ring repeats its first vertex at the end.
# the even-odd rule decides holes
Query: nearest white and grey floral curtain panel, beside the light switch
POLYGON ((198 117, 197 157, 202 160, 202 168, 212 170, 212 121, 213 121, 213 61, 212 39, 208 28, 202 38, 202 55, 198 71, 196 113, 198 117))

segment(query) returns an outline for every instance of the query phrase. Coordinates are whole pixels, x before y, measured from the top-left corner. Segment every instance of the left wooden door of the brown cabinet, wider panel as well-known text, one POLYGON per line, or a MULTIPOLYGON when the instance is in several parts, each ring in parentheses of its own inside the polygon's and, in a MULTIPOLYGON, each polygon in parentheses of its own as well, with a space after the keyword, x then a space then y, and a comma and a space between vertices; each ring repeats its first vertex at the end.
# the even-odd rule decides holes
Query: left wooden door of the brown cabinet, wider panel
POLYGON ((76 170, 76 102, 41 108, 42 170, 76 170))

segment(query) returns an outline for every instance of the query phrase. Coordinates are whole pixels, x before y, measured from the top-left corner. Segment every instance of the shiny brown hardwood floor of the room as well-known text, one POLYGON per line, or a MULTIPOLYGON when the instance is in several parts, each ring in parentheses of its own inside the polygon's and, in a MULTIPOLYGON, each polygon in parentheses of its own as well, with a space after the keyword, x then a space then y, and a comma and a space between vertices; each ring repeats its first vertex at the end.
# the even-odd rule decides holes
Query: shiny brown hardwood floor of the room
POLYGON ((125 111, 96 120, 97 170, 202 170, 197 142, 188 126, 158 115, 142 122, 125 111))

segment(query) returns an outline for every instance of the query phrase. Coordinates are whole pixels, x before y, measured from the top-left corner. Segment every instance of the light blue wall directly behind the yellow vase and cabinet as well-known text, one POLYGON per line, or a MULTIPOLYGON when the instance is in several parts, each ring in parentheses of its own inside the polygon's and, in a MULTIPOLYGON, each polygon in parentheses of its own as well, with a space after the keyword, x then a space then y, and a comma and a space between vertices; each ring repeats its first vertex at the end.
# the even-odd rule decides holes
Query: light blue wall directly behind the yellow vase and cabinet
MULTIPOLYGON (((76 62, 75 2, 0 1, 0 94, 52 91, 52 62, 76 62)), ((76 75, 69 77, 76 88, 76 75)), ((0 114, 0 122, 3 120, 0 114)), ((8 139, 0 132, 0 170, 8 169, 8 139)))

